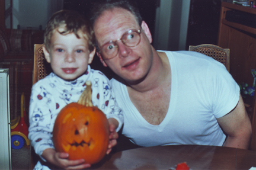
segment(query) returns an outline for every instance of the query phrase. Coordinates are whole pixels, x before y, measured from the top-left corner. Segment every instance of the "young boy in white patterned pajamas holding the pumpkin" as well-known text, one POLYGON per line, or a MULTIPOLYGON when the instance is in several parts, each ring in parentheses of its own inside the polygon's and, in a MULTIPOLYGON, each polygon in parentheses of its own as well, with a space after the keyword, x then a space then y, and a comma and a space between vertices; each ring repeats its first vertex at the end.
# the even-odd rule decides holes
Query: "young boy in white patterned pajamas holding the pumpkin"
POLYGON ((29 139, 41 160, 35 169, 88 168, 84 159, 69 161, 68 153, 57 153, 52 130, 59 111, 77 102, 86 81, 92 83, 92 104, 100 108, 110 124, 110 145, 116 145, 116 131, 123 124, 123 114, 111 93, 108 78, 89 64, 95 54, 91 27, 74 11, 59 11, 47 23, 43 51, 53 72, 33 85, 30 99, 29 139))

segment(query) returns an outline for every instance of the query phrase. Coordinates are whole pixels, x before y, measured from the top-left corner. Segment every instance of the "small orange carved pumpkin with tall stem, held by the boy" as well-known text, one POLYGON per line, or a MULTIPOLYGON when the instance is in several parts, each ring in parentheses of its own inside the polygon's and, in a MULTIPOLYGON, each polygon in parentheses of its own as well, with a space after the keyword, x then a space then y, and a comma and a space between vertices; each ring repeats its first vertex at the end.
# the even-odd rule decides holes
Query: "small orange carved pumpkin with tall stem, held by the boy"
POLYGON ((69 159, 99 162, 107 152, 108 121, 91 102, 91 82, 79 98, 62 108, 53 127, 53 143, 57 152, 69 153, 69 159))

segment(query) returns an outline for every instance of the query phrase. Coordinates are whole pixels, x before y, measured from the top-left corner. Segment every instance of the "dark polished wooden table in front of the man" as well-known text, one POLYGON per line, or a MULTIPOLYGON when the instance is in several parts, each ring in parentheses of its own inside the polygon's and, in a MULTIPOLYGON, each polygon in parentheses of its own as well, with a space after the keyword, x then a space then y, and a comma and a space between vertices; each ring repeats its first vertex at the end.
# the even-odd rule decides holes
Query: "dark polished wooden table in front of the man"
POLYGON ((219 146, 175 145, 124 150, 105 156, 91 169, 165 169, 187 162, 191 169, 250 169, 256 152, 219 146))

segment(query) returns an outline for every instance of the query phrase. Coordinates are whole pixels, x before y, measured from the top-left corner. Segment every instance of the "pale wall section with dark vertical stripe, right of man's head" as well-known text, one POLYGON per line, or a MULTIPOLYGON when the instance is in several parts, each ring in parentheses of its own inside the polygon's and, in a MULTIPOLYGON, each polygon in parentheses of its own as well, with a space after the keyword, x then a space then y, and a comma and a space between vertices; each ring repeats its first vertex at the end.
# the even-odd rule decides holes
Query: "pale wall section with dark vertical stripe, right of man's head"
POLYGON ((156 50, 185 50, 190 0, 161 0, 156 9, 156 50))

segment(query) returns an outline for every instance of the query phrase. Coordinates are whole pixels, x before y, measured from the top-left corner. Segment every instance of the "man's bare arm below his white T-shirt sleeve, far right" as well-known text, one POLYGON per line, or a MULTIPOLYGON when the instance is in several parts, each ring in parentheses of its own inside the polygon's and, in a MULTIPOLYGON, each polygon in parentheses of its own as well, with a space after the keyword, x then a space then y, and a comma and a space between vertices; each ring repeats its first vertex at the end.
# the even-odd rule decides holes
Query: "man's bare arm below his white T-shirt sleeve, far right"
POLYGON ((236 107, 229 114, 217 118, 217 121, 228 135, 223 146, 248 149, 252 134, 251 121, 241 95, 236 107))

